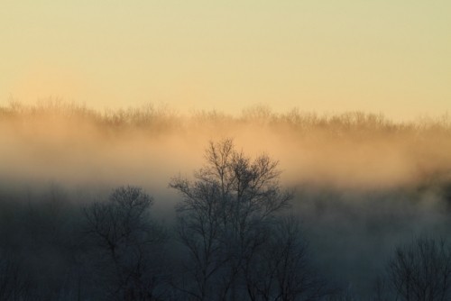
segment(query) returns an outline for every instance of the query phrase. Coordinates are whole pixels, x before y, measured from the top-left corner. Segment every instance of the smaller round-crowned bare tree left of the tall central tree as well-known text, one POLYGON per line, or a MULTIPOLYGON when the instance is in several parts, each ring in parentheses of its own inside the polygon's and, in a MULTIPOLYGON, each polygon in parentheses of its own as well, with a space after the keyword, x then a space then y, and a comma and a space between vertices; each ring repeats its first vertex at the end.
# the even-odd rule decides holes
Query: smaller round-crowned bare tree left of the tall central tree
POLYGON ((92 263, 110 299, 156 299, 165 234, 149 217, 151 205, 140 187, 119 187, 107 202, 85 208, 86 233, 96 251, 92 263))

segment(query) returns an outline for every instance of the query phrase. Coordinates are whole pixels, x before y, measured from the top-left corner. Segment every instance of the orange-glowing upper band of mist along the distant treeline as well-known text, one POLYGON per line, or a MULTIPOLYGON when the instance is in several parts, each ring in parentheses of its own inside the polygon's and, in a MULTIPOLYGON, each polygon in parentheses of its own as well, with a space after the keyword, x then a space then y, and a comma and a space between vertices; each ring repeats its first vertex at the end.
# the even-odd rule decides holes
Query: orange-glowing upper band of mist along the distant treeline
POLYGON ((5 178, 165 187, 202 165, 208 141, 232 138, 250 155, 280 160, 289 185, 399 187, 451 169, 449 116, 394 123, 381 114, 177 114, 146 105, 99 113, 83 105, 12 103, 3 108, 5 178))

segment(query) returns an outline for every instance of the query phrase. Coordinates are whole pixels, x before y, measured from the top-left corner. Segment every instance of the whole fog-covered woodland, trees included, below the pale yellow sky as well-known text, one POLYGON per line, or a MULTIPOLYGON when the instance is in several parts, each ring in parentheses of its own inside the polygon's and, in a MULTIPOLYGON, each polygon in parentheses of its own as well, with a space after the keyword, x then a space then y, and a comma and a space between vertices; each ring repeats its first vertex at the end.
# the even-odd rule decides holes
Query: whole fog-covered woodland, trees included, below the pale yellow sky
POLYGON ((10 102, 0 158, 1 300, 451 299, 447 114, 10 102))

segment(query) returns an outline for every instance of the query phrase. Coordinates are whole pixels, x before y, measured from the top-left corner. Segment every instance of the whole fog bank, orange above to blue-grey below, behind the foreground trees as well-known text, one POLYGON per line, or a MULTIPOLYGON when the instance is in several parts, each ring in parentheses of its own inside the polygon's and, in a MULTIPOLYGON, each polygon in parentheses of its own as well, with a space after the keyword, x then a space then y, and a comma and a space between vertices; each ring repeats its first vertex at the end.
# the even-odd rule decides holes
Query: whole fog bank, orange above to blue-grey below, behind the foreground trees
POLYGON ((33 202, 57 193, 85 204, 134 185, 154 197, 156 215, 170 226, 180 200, 170 178, 192 177, 208 141, 225 138, 246 155, 279 161, 318 269, 357 294, 371 289, 395 246, 449 235, 448 116, 396 123, 265 107, 231 116, 14 103, 0 107, 0 197, 33 202))

